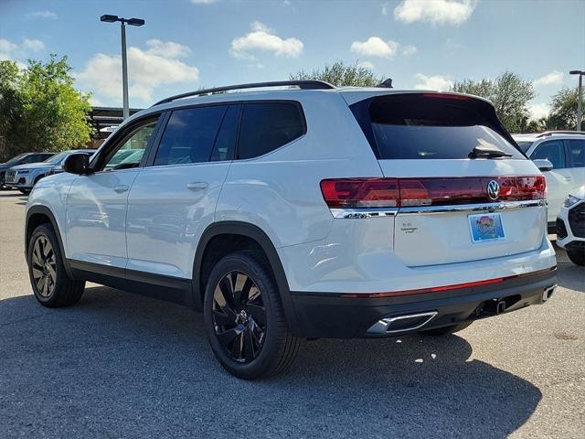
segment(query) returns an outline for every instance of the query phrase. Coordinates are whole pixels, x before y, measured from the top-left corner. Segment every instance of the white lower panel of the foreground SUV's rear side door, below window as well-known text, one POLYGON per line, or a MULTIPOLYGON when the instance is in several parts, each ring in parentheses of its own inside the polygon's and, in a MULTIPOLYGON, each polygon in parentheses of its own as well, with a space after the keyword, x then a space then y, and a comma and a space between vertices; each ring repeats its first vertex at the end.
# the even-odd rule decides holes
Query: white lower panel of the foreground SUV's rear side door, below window
POLYGON ((197 242, 213 222, 229 165, 144 168, 128 196, 128 269, 191 278, 197 242), (207 187, 187 188, 193 183, 207 187))

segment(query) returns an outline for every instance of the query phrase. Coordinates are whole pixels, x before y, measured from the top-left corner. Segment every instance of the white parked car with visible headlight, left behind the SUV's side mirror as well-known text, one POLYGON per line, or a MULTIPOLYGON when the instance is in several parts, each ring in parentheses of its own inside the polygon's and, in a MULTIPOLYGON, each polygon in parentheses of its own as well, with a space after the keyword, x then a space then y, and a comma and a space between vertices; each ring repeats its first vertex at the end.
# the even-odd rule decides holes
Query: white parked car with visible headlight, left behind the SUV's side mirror
POLYGON ((61 166, 65 159, 73 153, 93 155, 94 151, 88 149, 71 149, 58 153, 57 155, 52 155, 44 162, 12 166, 5 173, 5 186, 18 189, 23 194, 28 194, 37 184, 38 180, 42 177, 47 177, 53 169, 61 166))

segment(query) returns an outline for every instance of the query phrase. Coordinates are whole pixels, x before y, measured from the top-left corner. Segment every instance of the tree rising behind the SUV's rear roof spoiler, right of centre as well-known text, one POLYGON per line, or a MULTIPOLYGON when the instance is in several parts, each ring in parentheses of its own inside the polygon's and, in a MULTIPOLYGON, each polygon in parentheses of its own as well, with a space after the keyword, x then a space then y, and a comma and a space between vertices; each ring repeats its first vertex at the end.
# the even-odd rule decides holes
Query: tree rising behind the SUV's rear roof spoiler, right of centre
POLYGON ((511 133, 520 133, 527 126, 530 115, 528 102, 535 97, 532 82, 511 71, 505 71, 494 80, 455 82, 452 91, 474 94, 491 101, 497 116, 511 133))

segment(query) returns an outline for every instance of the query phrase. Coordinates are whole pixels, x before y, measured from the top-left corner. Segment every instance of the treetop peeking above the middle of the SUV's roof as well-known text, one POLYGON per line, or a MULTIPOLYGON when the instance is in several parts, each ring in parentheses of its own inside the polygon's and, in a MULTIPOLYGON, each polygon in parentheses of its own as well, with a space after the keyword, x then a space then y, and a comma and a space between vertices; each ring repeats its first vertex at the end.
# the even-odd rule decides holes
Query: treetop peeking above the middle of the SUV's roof
POLYGON ((325 64, 324 69, 316 69, 311 72, 300 70, 290 75, 291 80, 324 80, 335 87, 374 87, 383 79, 378 78, 372 70, 360 67, 357 64, 346 64, 344 61, 336 61, 333 64, 325 64))

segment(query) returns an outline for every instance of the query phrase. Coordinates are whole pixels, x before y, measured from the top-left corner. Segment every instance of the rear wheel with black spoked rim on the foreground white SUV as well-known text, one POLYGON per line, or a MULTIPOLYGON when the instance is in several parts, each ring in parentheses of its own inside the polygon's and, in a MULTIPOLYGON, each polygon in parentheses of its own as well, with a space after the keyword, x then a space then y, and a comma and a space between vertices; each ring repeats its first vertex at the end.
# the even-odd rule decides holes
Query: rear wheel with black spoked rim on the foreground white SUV
POLYGON ((204 316, 214 355, 244 380, 288 369, 301 347, 287 325, 270 265, 256 252, 234 252, 216 264, 207 280, 204 316))

